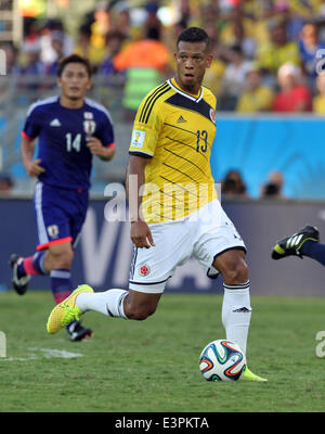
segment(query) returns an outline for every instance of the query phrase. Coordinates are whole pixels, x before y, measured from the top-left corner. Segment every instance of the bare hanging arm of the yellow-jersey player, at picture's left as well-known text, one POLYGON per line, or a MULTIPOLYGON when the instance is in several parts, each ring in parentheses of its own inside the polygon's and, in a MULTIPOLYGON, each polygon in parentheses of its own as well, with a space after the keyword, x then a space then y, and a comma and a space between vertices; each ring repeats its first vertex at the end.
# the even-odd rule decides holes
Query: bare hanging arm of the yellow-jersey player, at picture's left
POLYGON ((127 170, 127 195, 129 199, 131 240, 136 247, 150 248, 154 240, 150 227, 144 221, 141 213, 141 187, 144 184, 144 170, 148 158, 130 155, 127 170))

